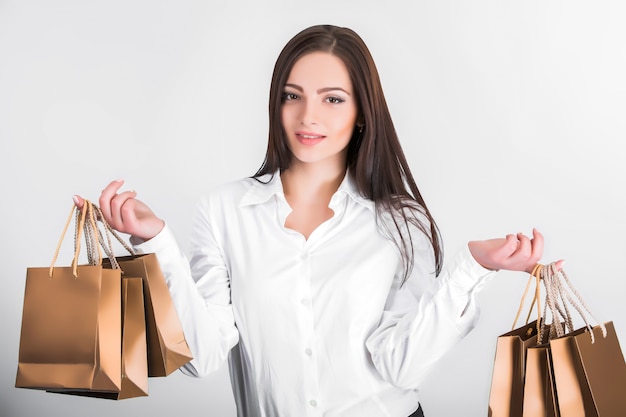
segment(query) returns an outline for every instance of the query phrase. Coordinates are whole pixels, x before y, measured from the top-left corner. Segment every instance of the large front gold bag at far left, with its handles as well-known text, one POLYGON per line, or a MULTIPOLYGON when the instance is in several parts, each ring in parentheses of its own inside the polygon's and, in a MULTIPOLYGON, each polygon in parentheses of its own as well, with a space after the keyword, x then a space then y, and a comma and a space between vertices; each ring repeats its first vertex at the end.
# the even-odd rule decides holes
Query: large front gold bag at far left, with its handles
POLYGON ((27 268, 15 386, 119 391, 121 272, 78 265, 88 210, 76 211, 71 266, 55 266, 73 213, 51 266, 27 268))

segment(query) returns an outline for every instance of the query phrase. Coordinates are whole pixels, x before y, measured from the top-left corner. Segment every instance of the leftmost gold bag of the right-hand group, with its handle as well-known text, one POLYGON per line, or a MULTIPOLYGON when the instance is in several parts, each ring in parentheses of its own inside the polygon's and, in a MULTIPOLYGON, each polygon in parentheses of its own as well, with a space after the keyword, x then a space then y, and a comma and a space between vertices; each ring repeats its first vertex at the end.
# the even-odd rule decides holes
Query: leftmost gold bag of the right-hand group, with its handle
POLYGON ((526 284, 517 315, 513 322, 513 330, 498 336, 494 358, 491 389, 489 393, 489 417, 522 417, 524 402, 524 376, 526 371, 526 352, 531 346, 537 345, 542 320, 539 300, 539 278, 533 271, 526 284), (522 310, 530 283, 535 281, 535 294, 532 298, 526 324, 515 328, 522 310), (537 305, 537 320, 529 323, 533 307, 537 305))

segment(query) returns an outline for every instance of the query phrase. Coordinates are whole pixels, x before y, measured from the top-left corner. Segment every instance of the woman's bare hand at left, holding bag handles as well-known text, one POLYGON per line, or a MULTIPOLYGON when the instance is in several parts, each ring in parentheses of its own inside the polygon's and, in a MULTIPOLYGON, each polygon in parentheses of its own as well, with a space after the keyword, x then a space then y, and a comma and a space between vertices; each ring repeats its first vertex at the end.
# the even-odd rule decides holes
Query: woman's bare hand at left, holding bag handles
MULTIPOLYGON (((135 191, 118 193, 124 184, 123 180, 113 181, 102 190, 99 205, 104 219, 120 233, 126 233, 141 240, 150 240, 155 237, 165 222, 141 200, 137 200, 135 191)), ((73 197, 74 204, 83 208, 84 201, 80 196, 73 197)))

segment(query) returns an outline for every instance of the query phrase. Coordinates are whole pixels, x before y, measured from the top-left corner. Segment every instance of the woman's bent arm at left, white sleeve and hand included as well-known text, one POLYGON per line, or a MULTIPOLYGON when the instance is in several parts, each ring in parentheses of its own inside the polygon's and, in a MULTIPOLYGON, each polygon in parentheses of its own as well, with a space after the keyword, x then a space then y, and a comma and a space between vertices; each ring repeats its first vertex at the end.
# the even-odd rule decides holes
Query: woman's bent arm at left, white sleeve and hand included
MULTIPOLYGON (((194 357, 181 370, 204 376, 219 368, 239 340, 230 305, 230 280, 206 212, 198 210, 195 217, 190 268, 170 229, 135 198, 134 191, 118 193, 121 185, 114 181, 102 192, 103 216, 117 231, 131 234, 138 253, 157 255, 194 357)), ((80 197, 74 201, 82 207, 80 197)))

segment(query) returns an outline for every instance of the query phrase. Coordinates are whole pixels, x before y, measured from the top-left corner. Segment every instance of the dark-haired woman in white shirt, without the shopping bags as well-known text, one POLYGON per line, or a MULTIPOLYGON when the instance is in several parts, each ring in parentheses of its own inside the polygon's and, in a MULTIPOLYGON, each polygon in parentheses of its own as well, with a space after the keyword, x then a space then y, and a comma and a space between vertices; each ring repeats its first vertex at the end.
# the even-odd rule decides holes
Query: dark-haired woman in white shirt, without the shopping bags
POLYGON ((314 26, 287 43, 269 116, 258 172, 201 200, 189 262, 122 181, 100 196, 106 220, 161 262, 194 356, 182 371, 228 358, 239 416, 423 415, 420 383, 473 327, 476 293, 492 271, 530 272, 541 234, 470 242, 443 268, 350 29, 314 26))

